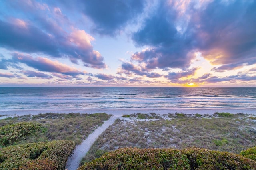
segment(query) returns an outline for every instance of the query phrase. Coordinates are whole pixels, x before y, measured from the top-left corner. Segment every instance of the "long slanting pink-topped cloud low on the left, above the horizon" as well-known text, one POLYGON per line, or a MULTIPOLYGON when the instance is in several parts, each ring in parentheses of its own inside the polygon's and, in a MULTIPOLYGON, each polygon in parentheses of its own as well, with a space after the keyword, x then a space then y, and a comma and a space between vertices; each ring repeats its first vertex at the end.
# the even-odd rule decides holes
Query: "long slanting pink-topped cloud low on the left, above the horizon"
POLYGON ((30 55, 23 55, 20 53, 14 53, 12 60, 14 62, 25 63, 26 65, 33 67, 39 71, 47 71, 52 73, 61 73, 64 75, 84 75, 83 72, 78 71, 75 68, 69 67, 66 64, 62 64, 58 61, 52 61, 48 58, 36 57, 33 58, 30 55))

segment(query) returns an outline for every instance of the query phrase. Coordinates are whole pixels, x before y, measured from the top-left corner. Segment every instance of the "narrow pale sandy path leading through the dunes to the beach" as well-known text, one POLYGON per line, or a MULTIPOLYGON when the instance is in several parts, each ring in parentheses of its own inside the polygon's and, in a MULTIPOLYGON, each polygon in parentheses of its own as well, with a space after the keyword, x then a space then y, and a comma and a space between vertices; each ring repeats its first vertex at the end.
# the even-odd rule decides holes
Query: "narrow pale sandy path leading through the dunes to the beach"
POLYGON ((76 170, 79 167, 79 163, 82 158, 86 155, 92 144, 97 140, 97 138, 102 134, 110 125, 112 125, 118 117, 112 116, 110 119, 104 122, 104 124, 98 127, 94 132, 92 132, 88 138, 86 138, 80 145, 76 146, 73 151, 73 155, 68 157, 66 163, 66 169, 76 170))

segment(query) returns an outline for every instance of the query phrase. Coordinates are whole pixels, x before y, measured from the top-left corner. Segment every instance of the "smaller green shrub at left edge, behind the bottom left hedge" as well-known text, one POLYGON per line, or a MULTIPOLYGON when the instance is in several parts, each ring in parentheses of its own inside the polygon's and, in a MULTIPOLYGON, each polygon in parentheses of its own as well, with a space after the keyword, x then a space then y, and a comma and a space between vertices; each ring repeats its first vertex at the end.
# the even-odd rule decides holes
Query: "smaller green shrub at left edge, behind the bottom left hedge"
POLYGON ((20 122, 0 127, 0 145, 9 146, 40 130, 41 125, 34 122, 20 122))

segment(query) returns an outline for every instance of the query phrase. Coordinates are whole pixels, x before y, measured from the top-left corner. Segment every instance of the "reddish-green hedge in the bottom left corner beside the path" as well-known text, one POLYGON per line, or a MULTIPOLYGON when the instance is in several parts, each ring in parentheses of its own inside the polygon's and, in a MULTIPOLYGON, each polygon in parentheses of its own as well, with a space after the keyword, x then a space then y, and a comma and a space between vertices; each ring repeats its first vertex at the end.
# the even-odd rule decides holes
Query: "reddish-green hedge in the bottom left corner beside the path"
POLYGON ((63 170, 74 148, 69 140, 8 146, 0 149, 0 169, 63 170))

